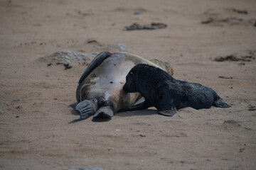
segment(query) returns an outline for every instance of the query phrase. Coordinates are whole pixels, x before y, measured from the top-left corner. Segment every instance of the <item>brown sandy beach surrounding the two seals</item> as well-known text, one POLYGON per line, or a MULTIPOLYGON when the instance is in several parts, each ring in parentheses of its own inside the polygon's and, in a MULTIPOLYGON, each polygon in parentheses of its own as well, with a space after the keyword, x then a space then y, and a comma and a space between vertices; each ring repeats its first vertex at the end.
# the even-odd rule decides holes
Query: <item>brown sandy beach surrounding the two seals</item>
POLYGON ((255 6, 1 0, 0 169, 255 169, 255 6), (133 23, 167 27, 125 30, 133 23), (174 78, 210 86, 232 107, 184 108, 173 117, 151 108, 70 123, 79 118, 70 105, 87 62, 64 69, 43 59, 58 51, 114 50, 118 43, 169 62, 174 78), (215 61, 230 55, 245 61, 215 61))

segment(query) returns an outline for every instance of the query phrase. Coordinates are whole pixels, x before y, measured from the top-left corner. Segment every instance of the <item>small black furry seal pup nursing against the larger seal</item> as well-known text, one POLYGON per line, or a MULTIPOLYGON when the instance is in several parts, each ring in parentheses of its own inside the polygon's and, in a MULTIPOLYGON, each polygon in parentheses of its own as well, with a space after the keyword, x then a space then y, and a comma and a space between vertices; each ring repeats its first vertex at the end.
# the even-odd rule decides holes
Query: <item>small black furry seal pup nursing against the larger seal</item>
POLYGON ((145 98, 141 109, 154 106, 161 115, 171 116, 177 109, 186 107, 231 107, 213 89, 201 84, 176 80, 162 69, 148 64, 133 67, 127 74, 123 89, 130 93, 139 91, 145 98))

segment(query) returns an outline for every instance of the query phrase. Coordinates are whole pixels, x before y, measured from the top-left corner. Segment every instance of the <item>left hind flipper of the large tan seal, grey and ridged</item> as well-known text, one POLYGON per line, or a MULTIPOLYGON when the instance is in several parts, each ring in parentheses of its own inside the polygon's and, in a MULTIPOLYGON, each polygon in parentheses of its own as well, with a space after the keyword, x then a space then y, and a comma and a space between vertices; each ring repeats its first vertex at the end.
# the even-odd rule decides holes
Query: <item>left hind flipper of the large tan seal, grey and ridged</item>
POLYGON ((97 111, 97 104, 94 101, 81 101, 75 110, 79 111, 81 119, 87 119, 97 111))

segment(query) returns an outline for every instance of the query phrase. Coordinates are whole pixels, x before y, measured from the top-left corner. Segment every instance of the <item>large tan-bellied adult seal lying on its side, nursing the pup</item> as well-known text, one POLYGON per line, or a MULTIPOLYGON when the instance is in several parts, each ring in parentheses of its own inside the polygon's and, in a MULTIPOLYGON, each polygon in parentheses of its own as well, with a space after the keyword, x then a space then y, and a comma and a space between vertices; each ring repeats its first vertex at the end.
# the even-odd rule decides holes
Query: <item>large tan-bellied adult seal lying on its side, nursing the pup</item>
POLYGON ((97 55, 78 81, 78 105, 75 110, 80 112, 80 118, 85 119, 90 115, 111 118, 117 111, 131 107, 136 109, 142 105, 144 98, 139 93, 129 94, 122 89, 129 70, 140 63, 173 74, 170 65, 159 60, 149 61, 125 52, 102 52, 97 55))

